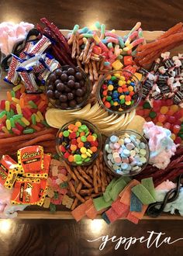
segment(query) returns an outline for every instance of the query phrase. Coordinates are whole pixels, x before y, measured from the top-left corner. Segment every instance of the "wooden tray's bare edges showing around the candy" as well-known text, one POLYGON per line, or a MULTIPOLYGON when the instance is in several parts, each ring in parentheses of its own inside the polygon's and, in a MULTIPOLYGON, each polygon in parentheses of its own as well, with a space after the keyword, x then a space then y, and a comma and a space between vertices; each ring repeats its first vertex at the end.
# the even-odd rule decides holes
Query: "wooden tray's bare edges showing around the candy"
MULTIPOLYGON (((67 36, 67 33, 70 32, 70 30, 61 30, 61 32, 64 34, 64 36, 67 36)), ((119 36, 124 36, 126 33, 129 33, 128 30, 121 31, 116 30, 116 33, 119 36)), ((163 31, 143 31, 143 36, 146 38, 147 42, 150 42, 152 40, 155 40, 157 36, 161 36, 164 32, 163 31)), ((174 48, 174 50, 171 51, 171 54, 178 54, 183 53, 183 47, 177 47, 174 48)), ((1 85, 0 85, 0 100, 6 99, 6 91, 12 89, 12 85, 9 85, 3 81, 3 78, 5 78, 5 72, 2 71, 2 77, 0 79, 1 85)), ((70 211, 66 211, 65 208, 62 210, 62 206, 58 207, 56 213, 50 213, 49 210, 43 209, 40 207, 35 206, 29 206, 27 209, 25 209, 22 212, 19 212, 18 217, 16 219, 64 219, 64 220, 71 220, 73 219, 73 216, 71 215, 70 211), (39 210, 40 209, 40 210, 39 210)), ((98 216, 98 219, 100 219, 101 216, 98 216)), ((123 218, 121 219, 123 220, 123 218)), ((151 218, 149 216, 143 216, 143 220, 183 220, 183 217, 180 215, 171 215, 171 214, 162 214, 161 216, 157 218, 151 218)))

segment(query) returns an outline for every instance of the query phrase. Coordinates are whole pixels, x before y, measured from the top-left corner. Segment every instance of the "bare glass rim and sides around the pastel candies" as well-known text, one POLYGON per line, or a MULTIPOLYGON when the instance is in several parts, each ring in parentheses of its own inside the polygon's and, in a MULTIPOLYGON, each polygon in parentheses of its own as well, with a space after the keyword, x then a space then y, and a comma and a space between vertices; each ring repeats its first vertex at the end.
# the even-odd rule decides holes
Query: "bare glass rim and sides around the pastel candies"
MULTIPOLYGON (((136 133, 133 130, 124 130, 124 131, 119 131, 116 133, 112 133, 106 140, 105 140, 105 144, 104 144, 104 148, 103 148, 103 155, 104 155, 104 160, 105 160, 105 164, 107 165, 107 167, 109 168, 109 170, 112 172, 113 175, 116 176, 134 176, 134 175, 138 175, 141 171, 143 171, 144 168, 146 168, 149 158, 150 158, 150 149, 149 149, 149 145, 147 143, 147 140, 140 134, 140 133, 136 133), (140 168, 141 170, 137 170, 137 171, 129 171, 129 173, 123 173, 123 174, 118 174, 116 173, 115 169, 109 164, 109 160, 108 160, 108 154, 105 150, 105 146, 106 144, 109 144, 110 142, 110 137, 112 137, 112 135, 115 135, 116 137, 123 137, 125 135, 125 133, 130 135, 134 135, 136 136, 136 139, 139 139, 140 142, 143 142, 145 144, 145 150, 147 150, 147 154, 144 156, 147 159, 147 162, 145 164, 143 164, 140 168)), ((119 167, 120 171, 123 171, 122 168, 119 167)))

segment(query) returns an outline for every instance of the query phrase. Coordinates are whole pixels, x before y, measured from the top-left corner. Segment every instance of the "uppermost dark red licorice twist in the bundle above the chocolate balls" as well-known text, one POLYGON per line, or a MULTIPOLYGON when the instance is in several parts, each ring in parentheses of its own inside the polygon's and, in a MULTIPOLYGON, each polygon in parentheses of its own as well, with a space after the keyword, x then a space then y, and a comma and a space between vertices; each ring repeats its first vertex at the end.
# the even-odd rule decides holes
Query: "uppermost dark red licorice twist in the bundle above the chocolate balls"
POLYGON ((45 25, 47 25, 47 27, 48 27, 52 32, 55 33, 55 35, 57 36, 57 39, 58 39, 60 42, 64 43, 64 47, 65 47, 67 53, 68 53, 68 54, 71 54, 71 49, 70 49, 70 47, 69 47, 69 45, 68 45, 68 43, 67 43, 67 40, 66 40, 65 36, 64 36, 64 35, 60 32, 60 30, 57 28, 57 26, 55 26, 53 22, 50 22, 50 21, 49 21, 48 19, 46 19, 46 18, 42 18, 42 19, 40 19, 40 21, 43 22, 45 25))

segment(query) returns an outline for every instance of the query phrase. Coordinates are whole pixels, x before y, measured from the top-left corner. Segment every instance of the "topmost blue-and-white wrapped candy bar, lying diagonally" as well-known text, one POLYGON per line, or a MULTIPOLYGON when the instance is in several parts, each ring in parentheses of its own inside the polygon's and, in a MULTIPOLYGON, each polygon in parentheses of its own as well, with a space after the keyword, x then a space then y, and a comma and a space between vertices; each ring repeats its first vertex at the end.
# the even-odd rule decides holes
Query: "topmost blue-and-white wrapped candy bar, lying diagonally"
POLYGON ((50 39, 47 36, 42 36, 42 38, 29 50, 28 54, 43 54, 47 47, 51 44, 50 39))

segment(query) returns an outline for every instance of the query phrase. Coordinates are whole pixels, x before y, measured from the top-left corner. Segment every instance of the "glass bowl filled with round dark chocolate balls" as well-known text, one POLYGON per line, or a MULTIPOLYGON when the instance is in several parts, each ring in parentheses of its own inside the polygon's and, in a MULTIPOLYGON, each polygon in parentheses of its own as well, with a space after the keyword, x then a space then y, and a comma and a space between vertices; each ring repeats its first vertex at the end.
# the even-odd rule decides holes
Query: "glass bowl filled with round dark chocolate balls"
POLYGON ((88 101, 91 84, 78 67, 63 66, 47 78, 47 97, 57 109, 80 109, 88 101))

